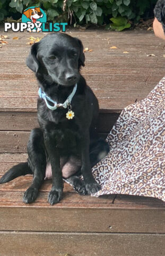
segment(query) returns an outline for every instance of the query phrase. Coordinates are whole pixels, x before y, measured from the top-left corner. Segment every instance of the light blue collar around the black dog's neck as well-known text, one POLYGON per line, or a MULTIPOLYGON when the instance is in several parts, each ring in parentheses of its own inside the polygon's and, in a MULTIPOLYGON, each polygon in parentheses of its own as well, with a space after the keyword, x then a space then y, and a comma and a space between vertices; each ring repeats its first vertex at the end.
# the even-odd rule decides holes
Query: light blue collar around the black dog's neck
POLYGON ((74 96, 76 90, 77 90, 77 84, 74 85, 74 88, 73 88, 72 93, 67 97, 67 99, 65 100, 64 103, 57 103, 56 101, 52 100, 50 97, 48 97, 48 96, 46 95, 45 92, 42 92, 41 88, 39 88, 39 90, 38 90, 38 95, 39 95, 39 97, 40 97, 41 99, 45 100, 46 106, 47 106, 49 109, 55 110, 55 109, 57 109, 58 107, 67 108, 67 106, 70 105, 71 100, 72 100, 72 98, 73 98, 73 96, 74 96), (50 102, 54 103, 54 106, 50 106, 47 100, 49 100, 50 102))

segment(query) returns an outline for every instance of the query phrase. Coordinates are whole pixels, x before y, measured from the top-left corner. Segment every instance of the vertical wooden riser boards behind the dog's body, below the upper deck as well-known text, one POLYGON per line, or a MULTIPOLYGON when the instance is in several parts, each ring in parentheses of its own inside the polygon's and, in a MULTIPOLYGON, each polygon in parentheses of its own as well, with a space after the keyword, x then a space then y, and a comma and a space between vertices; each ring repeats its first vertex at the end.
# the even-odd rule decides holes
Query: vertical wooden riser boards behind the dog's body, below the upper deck
MULTIPOLYGON (((107 137, 118 116, 118 113, 100 113, 97 131, 102 138, 107 137)), ((39 126, 37 113, 0 111, 0 120, 0 152, 26 153, 30 131, 39 126)))

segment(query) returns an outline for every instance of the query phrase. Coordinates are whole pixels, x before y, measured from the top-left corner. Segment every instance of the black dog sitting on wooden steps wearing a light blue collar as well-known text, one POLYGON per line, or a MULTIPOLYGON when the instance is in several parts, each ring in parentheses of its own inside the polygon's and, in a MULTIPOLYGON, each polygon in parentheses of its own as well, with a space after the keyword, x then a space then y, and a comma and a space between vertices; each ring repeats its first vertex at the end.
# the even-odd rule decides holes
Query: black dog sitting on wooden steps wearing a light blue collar
POLYGON ((25 203, 37 198, 50 172, 53 185, 48 201, 52 205, 63 197, 63 178, 80 194, 92 194, 100 189, 91 166, 106 156, 109 147, 95 132, 99 106, 80 75, 84 60, 81 41, 63 33, 49 34, 31 47, 27 66, 36 73, 40 86, 40 129, 31 131, 28 162, 13 166, 0 180, 5 183, 33 173, 32 185, 24 194, 25 203), (68 98, 69 95, 73 99, 68 98), (83 181, 79 179, 80 171, 83 181))

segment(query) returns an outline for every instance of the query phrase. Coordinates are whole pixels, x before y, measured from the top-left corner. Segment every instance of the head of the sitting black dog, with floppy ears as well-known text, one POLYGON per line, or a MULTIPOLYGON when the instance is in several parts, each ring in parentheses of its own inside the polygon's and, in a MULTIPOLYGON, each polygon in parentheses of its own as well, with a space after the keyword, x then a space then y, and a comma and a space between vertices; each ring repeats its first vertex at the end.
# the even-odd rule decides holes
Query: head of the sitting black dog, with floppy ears
POLYGON ((74 85, 80 78, 85 56, 80 39, 64 33, 51 33, 31 47, 27 66, 39 81, 64 86, 74 85))

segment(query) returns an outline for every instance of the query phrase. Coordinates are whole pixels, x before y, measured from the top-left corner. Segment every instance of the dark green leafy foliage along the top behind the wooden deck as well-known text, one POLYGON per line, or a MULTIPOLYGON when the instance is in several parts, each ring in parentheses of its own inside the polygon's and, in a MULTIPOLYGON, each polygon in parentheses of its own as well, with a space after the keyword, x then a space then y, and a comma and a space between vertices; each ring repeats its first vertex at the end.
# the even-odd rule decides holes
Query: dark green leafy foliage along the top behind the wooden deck
POLYGON ((5 17, 21 17, 29 6, 40 6, 52 22, 69 21, 74 26, 93 23, 108 24, 108 28, 129 28, 129 20, 136 23, 140 18, 152 17, 157 0, 67 0, 63 12, 63 0, 1 0, 0 21, 5 17))

